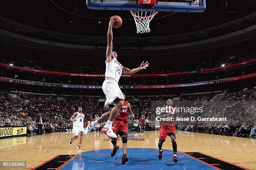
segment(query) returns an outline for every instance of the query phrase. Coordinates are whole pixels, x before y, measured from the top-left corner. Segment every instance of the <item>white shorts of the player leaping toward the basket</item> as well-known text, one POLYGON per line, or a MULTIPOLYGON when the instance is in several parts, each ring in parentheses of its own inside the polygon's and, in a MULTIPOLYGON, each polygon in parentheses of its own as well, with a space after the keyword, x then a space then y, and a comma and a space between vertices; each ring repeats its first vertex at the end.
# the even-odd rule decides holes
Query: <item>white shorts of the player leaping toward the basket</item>
POLYGON ((123 93, 119 88, 118 83, 115 80, 107 79, 102 84, 102 90, 105 93, 107 99, 105 101, 105 107, 109 108, 109 105, 114 105, 116 98, 124 100, 123 93))

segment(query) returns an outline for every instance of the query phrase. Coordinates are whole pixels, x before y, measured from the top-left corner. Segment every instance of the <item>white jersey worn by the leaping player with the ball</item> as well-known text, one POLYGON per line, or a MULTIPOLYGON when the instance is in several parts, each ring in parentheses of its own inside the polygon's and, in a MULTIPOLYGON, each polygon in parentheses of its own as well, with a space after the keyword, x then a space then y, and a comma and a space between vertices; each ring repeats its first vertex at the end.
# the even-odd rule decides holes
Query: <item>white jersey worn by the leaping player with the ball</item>
POLYGON ((117 83, 122 75, 123 66, 116 60, 115 57, 106 63, 105 79, 114 79, 117 83))

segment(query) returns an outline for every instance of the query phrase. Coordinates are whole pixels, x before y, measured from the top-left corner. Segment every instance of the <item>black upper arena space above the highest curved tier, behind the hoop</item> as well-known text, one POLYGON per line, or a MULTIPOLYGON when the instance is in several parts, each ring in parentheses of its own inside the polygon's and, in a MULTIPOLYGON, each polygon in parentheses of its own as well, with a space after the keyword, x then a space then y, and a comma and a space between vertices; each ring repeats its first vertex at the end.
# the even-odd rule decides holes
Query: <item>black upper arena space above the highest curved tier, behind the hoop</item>
POLYGON ((108 18, 120 15, 123 25, 114 30, 115 37, 146 37, 187 33, 228 23, 255 12, 256 3, 253 0, 207 0, 206 6, 204 13, 159 13, 150 23, 151 32, 142 35, 136 33, 130 11, 89 10, 84 0, 8 0, 0 2, 0 11, 1 16, 18 23, 49 31, 88 36, 105 36, 108 18), (163 16, 166 17, 160 18, 163 16), (196 21, 200 28, 195 29, 194 26, 193 29, 196 21))

